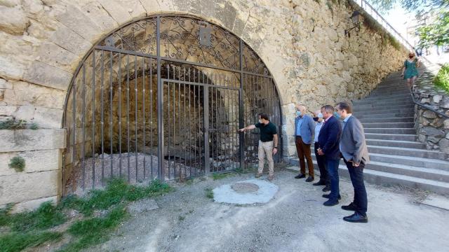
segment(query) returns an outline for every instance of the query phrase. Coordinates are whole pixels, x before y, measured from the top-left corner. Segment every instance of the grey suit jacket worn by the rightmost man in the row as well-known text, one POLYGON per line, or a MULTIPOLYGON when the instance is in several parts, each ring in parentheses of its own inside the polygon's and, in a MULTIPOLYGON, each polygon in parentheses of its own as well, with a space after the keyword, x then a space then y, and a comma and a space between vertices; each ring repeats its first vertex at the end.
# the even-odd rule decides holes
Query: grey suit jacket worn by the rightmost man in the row
POLYGON ((356 163, 363 161, 364 164, 370 162, 363 126, 354 116, 351 116, 343 127, 340 151, 348 161, 353 160, 356 163))

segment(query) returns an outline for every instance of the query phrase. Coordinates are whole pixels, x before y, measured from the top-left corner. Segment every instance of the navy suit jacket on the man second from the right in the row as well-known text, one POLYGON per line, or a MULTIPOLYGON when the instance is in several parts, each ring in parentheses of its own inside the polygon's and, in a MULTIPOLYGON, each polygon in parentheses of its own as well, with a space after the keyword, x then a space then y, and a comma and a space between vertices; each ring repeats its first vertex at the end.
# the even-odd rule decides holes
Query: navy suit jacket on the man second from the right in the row
POLYGON ((319 148, 323 151, 326 158, 331 160, 340 159, 340 138, 342 135, 342 125, 332 116, 321 127, 318 136, 319 148))

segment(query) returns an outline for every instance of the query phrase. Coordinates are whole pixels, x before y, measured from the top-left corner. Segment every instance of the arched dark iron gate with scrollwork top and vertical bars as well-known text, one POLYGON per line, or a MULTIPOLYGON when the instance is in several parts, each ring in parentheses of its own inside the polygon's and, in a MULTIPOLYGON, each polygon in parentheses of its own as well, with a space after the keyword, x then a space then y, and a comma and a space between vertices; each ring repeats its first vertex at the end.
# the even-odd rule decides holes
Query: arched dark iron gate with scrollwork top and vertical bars
POLYGON ((262 112, 281 135, 274 80, 241 38, 187 16, 130 22, 95 45, 72 78, 63 194, 115 176, 187 179, 257 166, 258 131, 238 129, 262 112))

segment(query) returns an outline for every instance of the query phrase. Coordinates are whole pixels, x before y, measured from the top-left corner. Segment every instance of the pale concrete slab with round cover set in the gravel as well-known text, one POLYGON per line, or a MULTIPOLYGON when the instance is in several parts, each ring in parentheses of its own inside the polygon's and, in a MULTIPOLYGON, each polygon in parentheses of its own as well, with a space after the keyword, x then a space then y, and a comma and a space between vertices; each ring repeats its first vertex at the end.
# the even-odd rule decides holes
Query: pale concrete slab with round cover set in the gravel
POLYGON ((248 179, 226 184, 213 190, 215 202, 231 204, 267 203, 279 190, 274 183, 262 179, 248 179))

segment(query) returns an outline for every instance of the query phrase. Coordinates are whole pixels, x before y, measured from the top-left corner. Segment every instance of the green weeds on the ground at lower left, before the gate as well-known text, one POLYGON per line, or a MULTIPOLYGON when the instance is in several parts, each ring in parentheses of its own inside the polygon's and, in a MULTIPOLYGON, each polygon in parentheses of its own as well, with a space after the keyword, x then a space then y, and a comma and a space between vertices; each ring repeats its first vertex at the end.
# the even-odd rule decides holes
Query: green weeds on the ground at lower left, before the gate
POLYGON ((110 231, 127 218, 129 202, 171 191, 173 188, 161 181, 152 181, 148 186, 134 186, 123 179, 114 179, 107 183, 105 190, 92 190, 86 197, 66 197, 58 206, 45 202, 35 211, 10 214, 13 205, 8 204, 0 209, 0 227, 7 230, 0 235, 1 251, 22 251, 60 239, 64 233, 48 232, 48 229, 67 221, 67 209, 79 211, 83 218, 70 225, 66 232, 72 239, 60 251, 80 251, 107 241, 110 231), (105 216, 92 217, 93 212, 100 209, 105 210, 105 216))

